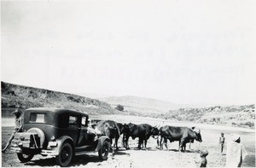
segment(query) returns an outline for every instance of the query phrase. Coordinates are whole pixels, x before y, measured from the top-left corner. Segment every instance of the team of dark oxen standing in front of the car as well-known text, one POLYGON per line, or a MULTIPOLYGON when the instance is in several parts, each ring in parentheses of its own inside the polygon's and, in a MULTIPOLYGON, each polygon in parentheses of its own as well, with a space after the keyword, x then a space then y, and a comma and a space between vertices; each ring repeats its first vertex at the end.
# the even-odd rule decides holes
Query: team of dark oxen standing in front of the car
POLYGON ((138 149, 141 149, 142 146, 143 148, 147 148, 147 142, 150 136, 157 139, 160 149, 163 149, 163 144, 167 148, 167 140, 170 142, 178 141, 178 151, 186 150, 186 143, 188 142, 194 142, 194 140, 202 142, 201 131, 188 127, 165 125, 159 128, 148 124, 122 124, 113 120, 102 120, 96 124, 95 130, 110 138, 113 154, 115 153, 115 149, 119 149, 118 140, 121 135, 123 135, 122 142, 126 149, 129 149, 128 140, 130 136, 133 140, 138 138, 138 149))

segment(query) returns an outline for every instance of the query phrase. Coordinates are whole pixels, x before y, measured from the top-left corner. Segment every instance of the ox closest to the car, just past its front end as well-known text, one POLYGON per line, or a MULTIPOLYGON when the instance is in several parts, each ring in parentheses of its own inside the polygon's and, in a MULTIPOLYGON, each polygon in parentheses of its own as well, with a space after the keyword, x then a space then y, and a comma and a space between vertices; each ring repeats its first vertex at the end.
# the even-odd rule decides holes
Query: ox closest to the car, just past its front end
POLYGON ((96 131, 100 131, 102 135, 109 137, 114 154, 114 148, 116 147, 118 149, 118 140, 120 136, 118 124, 112 120, 100 121, 96 125, 96 131))

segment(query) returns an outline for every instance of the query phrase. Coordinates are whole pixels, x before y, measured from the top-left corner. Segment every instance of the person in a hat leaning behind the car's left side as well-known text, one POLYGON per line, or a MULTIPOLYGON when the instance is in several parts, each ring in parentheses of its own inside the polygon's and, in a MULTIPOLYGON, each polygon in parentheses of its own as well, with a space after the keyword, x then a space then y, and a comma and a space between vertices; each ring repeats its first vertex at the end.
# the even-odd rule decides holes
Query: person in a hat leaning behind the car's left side
POLYGON ((13 112, 13 114, 15 114, 15 130, 13 131, 12 135, 9 137, 9 140, 8 140, 5 148, 2 149, 3 153, 5 152, 5 150, 7 148, 9 148, 10 143, 15 138, 15 133, 20 132, 22 129, 22 115, 21 115, 22 113, 20 112, 19 109, 16 109, 15 112, 13 112))

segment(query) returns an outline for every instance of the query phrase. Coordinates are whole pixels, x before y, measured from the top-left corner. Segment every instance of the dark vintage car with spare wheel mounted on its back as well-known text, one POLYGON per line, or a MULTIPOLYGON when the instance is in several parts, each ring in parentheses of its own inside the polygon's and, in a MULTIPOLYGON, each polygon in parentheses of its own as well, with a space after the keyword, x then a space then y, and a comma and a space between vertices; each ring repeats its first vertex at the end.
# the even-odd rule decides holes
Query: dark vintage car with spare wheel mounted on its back
POLYGON ((60 108, 29 108, 23 113, 23 131, 15 133, 11 148, 21 162, 35 154, 55 156, 56 163, 68 166, 76 155, 97 152, 108 159, 108 136, 96 136, 85 113, 60 108))

